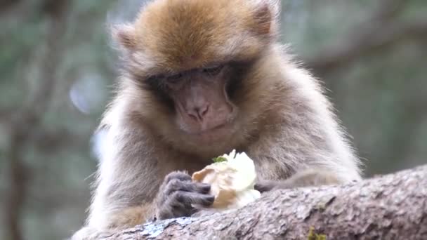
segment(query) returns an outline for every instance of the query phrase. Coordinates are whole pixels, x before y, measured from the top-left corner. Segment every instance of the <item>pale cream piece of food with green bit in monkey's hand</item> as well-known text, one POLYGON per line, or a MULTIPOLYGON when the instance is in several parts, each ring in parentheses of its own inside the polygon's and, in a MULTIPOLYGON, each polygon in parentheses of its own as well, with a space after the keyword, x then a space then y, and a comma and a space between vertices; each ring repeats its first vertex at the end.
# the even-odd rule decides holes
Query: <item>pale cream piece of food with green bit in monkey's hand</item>
POLYGON ((254 161, 244 152, 233 150, 213 159, 213 164, 192 174, 195 182, 211 185, 211 194, 215 196, 212 208, 240 208, 261 196, 254 189, 256 172, 254 161))

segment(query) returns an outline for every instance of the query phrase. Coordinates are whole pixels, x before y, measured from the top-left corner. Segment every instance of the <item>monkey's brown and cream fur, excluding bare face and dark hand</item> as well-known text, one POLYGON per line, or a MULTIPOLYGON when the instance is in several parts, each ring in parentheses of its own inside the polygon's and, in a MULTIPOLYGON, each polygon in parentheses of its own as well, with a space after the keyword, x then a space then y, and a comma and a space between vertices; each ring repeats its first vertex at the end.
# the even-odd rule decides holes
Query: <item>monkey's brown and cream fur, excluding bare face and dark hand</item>
POLYGON ((232 149, 254 159, 261 182, 360 179, 321 86, 277 43, 279 8, 275 0, 157 0, 132 25, 117 27, 124 74, 100 126, 106 135, 88 227, 75 239, 145 222, 168 173, 198 171, 232 149), (147 76, 228 61, 247 64, 233 100, 238 124, 212 145, 181 134, 174 113, 141 84, 147 76))

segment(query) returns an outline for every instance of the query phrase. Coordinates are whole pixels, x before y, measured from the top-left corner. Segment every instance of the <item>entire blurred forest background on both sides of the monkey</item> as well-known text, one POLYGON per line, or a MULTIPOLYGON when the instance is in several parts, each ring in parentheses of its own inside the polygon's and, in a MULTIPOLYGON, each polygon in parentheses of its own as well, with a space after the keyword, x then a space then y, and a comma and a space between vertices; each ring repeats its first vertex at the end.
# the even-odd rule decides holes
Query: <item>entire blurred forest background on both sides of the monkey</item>
MULTIPOLYGON (((427 1, 284 0, 282 40, 330 90, 366 175, 427 163, 427 1)), ((0 239, 84 222, 112 96, 108 27, 142 0, 0 1, 0 239)))

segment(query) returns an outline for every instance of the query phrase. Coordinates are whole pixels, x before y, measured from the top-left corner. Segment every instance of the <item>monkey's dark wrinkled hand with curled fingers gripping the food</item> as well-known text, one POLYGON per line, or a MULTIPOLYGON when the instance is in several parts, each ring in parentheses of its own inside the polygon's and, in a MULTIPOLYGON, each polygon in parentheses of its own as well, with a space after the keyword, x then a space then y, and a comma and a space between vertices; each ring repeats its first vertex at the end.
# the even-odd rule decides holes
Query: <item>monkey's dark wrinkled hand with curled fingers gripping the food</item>
POLYGON ((188 217, 198 211, 194 206, 208 207, 215 196, 211 185, 192 182, 191 176, 180 171, 166 175, 157 195, 157 219, 188 217))

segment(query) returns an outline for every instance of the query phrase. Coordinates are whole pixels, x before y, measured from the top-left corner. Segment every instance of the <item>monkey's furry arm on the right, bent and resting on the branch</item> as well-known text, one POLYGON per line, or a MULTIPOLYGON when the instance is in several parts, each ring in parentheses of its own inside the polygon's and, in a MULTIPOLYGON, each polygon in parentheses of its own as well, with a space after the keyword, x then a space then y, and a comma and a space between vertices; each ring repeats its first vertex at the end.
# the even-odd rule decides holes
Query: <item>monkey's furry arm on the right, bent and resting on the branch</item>
POLYGON ((360 180, 359 160, 333 115, 317 112, 320 107, 313 102, 293 106, 298 115, 286 116, 249 148, 259 178, 256 187, 265 192, 360 180))

